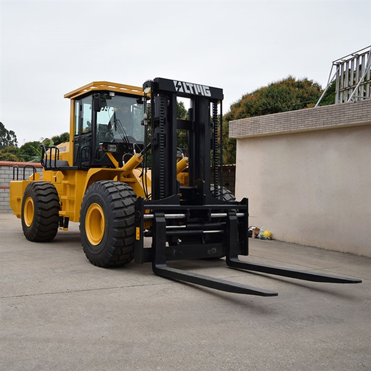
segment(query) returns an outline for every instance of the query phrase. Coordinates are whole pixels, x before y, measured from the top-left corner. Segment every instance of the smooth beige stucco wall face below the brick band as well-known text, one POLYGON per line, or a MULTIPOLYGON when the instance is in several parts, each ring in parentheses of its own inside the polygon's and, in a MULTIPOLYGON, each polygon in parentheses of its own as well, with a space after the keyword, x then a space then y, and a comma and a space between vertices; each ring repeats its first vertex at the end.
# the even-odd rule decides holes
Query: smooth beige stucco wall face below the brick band
POLYGON ((283 241, 371 256, 370 124, 240 136, 236 196, 249 198, 250 224, 283 241))

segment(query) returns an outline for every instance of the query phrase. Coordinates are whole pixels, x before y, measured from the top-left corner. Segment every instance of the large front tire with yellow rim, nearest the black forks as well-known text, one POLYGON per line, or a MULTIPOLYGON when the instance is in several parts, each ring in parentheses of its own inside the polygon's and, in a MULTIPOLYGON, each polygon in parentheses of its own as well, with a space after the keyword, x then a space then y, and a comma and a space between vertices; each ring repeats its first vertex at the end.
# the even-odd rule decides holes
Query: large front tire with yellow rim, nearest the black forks
POLYGON ((133 260, 135 201, 133 189, 119 181, 97 181, 87 189, 80 211, 80 234, 90 263, 108 268, 133 260))

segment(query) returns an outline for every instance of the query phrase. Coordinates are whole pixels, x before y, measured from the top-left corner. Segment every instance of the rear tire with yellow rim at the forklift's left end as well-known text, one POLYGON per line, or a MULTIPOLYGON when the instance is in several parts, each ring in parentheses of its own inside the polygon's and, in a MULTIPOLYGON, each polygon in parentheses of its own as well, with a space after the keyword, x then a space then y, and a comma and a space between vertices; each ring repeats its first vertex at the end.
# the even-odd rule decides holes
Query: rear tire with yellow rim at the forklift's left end
POLYGON ((54 185, 32 181, 24 190, 22 200, 22 229, 29 241, 51 241, 59 226, 59 197, 54 185))

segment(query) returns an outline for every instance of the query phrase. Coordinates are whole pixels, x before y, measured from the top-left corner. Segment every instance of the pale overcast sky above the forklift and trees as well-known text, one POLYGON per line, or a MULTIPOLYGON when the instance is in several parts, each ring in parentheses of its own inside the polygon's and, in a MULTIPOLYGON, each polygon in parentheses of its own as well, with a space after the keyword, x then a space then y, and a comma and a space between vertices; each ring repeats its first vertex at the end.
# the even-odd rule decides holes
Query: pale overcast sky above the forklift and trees
POLYGON ((164 77, 223 88, 224 112, 288 75, 327 83, 371 44, 371 1, 0 1, 0 120, 19 146, 69 131, 64 94, 164 77))

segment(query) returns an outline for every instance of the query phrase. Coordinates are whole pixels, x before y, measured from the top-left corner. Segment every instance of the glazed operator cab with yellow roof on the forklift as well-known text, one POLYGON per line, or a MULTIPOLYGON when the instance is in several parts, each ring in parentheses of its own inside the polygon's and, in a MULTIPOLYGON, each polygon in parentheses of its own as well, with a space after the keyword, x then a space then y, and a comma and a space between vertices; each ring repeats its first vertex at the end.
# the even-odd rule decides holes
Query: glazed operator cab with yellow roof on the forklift
POLYGON ((143 149, 141 88, 100 82, 77 90, 65 96, 71 98, 74 112, 71 122, 73 166, 82 169, 115 167, 106 154, 111 152, 121 167, 135 152, 143 149))

